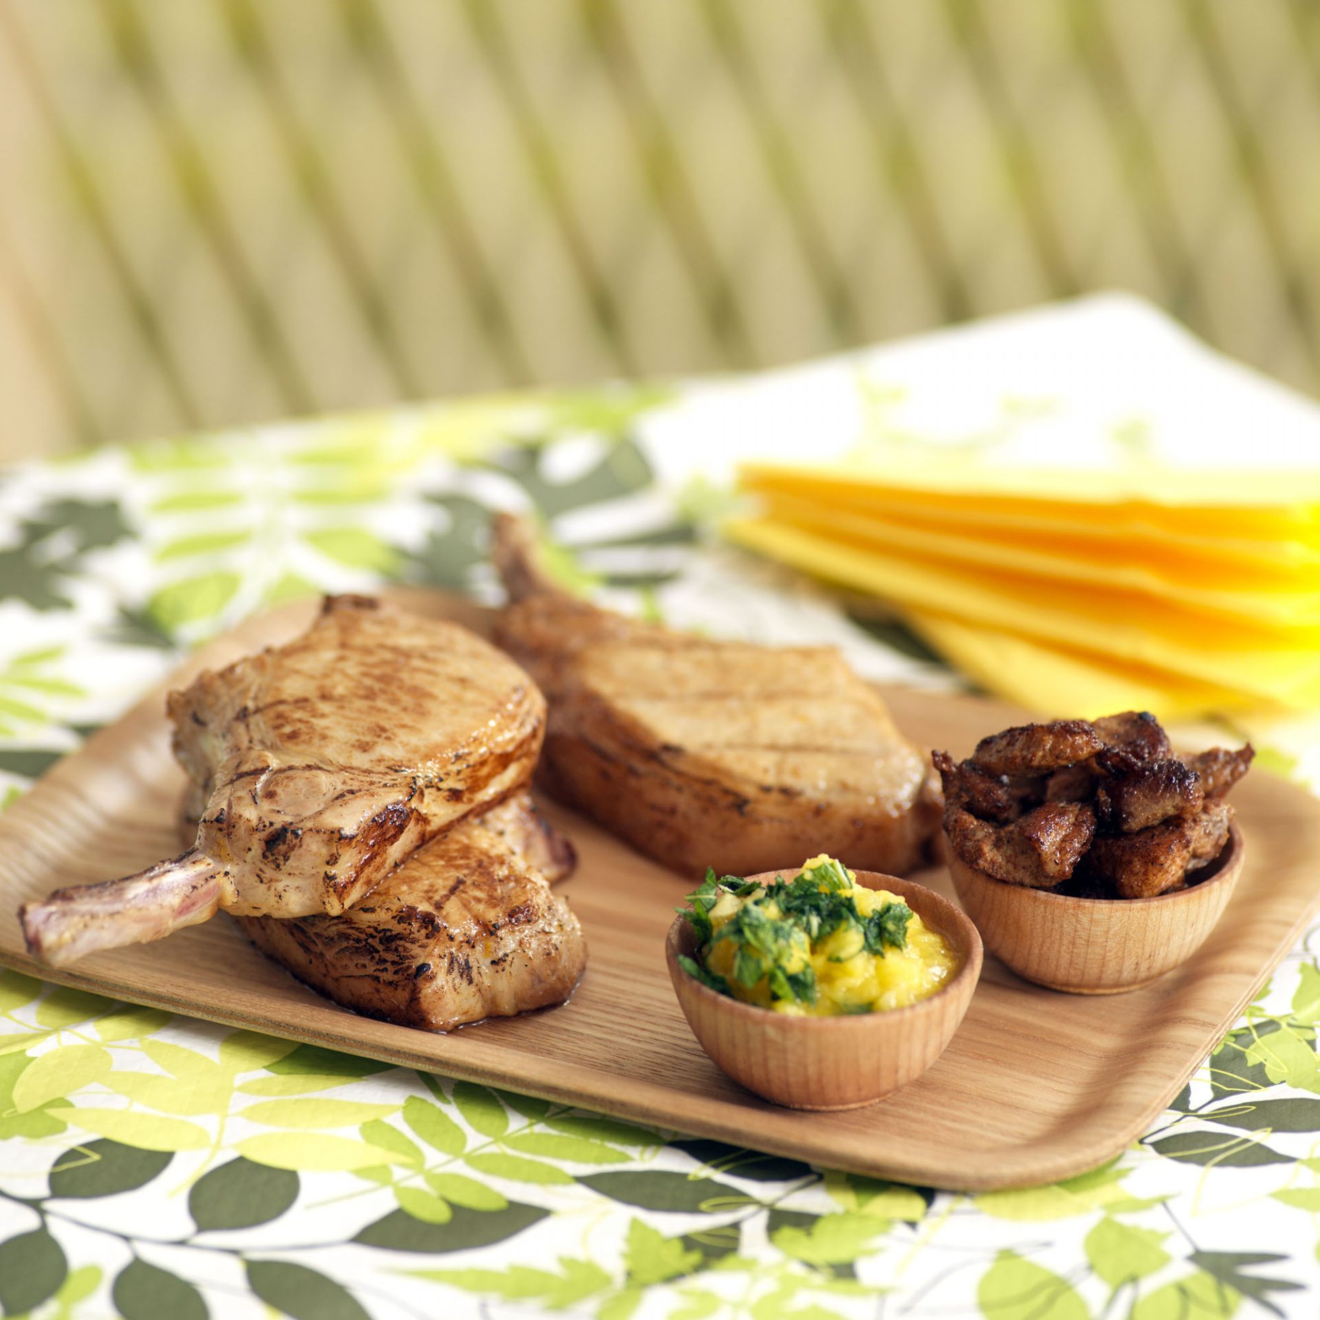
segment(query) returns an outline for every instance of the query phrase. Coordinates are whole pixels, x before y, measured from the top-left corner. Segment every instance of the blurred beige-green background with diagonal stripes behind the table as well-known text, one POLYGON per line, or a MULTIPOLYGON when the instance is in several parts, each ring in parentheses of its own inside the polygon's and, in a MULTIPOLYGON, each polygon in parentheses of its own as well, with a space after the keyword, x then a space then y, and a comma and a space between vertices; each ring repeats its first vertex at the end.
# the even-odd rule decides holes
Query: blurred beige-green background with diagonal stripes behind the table
POLYGON ((1110 286, 1320 391, 1315 0, 0 0, 0 457, 1110 286))

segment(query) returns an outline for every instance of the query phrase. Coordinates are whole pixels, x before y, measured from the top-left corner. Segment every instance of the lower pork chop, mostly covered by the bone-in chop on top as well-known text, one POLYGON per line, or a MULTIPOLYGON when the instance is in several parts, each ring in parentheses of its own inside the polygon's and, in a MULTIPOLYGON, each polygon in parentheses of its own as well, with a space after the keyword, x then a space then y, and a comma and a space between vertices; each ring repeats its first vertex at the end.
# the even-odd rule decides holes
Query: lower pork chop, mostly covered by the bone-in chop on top
POLYGON ((426 843, 341 916, 238 920, 335 1003, 447 1031, 569 997, 586 941, 548 882, 572 866, 572 847, 521 795, 426 843))

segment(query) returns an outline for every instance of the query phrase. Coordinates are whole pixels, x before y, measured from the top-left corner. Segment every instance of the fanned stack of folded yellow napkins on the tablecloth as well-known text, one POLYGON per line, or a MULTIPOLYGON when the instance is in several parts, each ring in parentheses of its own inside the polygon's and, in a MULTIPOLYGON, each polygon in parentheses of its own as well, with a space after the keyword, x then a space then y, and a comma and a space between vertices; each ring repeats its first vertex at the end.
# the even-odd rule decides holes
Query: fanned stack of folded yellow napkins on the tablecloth
POLYGON ((1225 590, 1209 569, 1197 583, 1187 546, 1173 574, 1077 545, 1051 554, 968 529, 936 532, 915 515, 906 524, 866 517, 799 491, 731 519, 726 535, 892 603, 991 690, 1071 713, 1114 709, 1121 693, 1168 715, 1320 706, 1313 572, 1251 589, 1239 566, 1225 590))

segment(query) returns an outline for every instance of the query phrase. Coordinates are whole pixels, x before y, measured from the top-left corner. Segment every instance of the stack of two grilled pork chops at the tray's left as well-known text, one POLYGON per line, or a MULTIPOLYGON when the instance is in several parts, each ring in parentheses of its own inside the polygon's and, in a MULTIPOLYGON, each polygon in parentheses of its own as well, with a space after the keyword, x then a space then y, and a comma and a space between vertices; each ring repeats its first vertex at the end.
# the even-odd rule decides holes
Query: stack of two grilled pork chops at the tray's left
POLYGON ((24 912, 49 962, 218 908, 302 981, 442 1031, 568 997, 573 851, 528 788, 545 698, 466 628, 334 597, 302 636, 172 693, 195 843, 24 912))

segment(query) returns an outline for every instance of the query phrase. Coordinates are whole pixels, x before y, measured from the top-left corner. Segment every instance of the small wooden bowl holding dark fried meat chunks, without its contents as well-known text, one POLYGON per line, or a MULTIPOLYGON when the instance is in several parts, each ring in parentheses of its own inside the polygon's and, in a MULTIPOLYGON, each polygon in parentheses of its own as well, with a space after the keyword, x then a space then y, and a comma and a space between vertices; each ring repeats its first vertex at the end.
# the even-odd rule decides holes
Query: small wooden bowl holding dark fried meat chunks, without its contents
POLYGON ((986 948, 1019 977, 1068 994, 1121 994, 1150 985, 1204 942, 1242 873, 1234 822, 1214 873, 1152 899, 1082 899, 1007 884, 944 842, 953 887, 986 948))

